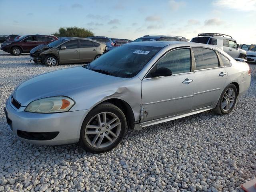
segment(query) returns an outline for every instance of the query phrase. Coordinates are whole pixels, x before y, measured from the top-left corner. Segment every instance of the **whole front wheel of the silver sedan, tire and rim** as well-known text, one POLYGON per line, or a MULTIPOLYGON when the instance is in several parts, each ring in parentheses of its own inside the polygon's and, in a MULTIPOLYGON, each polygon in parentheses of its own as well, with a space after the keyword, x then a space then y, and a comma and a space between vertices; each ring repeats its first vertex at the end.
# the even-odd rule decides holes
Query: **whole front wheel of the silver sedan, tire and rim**
POLYGON ((125 131, 126 118, 122 110, 111 103, 104 102, 92 109, 84 119, 79 144, 91 153, 107 152, 120 143, 125 131))

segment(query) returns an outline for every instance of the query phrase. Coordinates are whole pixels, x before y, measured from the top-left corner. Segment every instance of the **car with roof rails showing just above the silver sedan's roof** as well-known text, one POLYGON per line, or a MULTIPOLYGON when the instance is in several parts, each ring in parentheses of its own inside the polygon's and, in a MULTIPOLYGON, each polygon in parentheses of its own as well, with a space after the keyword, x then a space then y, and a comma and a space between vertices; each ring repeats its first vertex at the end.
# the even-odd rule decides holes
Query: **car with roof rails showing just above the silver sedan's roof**
POLYGON ((140 41, 186 41, 189 40, 182 36, 166 36, 166 35, 144 35, 133 42, 140 42, 140 41))

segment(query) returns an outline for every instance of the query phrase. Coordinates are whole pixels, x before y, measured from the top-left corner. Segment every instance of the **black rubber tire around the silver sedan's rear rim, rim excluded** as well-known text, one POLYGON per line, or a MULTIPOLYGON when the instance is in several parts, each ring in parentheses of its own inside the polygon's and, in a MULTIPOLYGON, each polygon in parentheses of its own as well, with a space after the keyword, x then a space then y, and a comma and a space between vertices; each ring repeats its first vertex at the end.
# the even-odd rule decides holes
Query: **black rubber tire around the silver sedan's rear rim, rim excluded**
POLYGON ((218 103, 217 103, 217 105, 216 105, 216 107, 214 109, 214 112, 216 112, 217 114, 220 114, 220 115, 225 115, 225 114, 230 113, 233 110, 233 108, 234 108, 234 106, 236 104, 236 99, 237 99, 237 89, 236 89, 236 86, 234 84, 229 84, 223 90, 222 94, 220 95, 220 98, 219 98, 218 103), (232 104, 232 106, 230 107, 229 110, 224 110, 222 108, 222 102, 224 102, 223 96, 226 93, 226 91, 229 90, 230 88, 232 88, 234 90, 234 103, 232 104))

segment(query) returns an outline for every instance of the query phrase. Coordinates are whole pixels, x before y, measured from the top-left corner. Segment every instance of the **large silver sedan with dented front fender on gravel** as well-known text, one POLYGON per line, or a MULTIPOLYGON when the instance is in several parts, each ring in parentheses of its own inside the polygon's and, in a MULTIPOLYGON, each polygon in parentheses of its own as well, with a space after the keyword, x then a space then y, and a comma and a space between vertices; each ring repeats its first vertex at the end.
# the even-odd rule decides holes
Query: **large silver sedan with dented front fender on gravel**
POLYGON ((20 84, 6 101, 13 134, 33 144, 79 142, 114 148, 126 128, 214 109, 228 114, 250 86, 250 68, 217 47, 191 42, 132 42, 87 66, 20 84))

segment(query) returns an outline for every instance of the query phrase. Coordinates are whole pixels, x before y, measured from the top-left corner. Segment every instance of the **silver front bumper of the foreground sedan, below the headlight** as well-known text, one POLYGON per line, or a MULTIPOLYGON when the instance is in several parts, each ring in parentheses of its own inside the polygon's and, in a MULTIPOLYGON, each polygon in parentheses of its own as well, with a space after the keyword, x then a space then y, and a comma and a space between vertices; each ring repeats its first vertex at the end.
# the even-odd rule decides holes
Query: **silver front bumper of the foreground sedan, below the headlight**
POLYGON ((80 129, 88 110, 40 114, 25 112, 25 108, 26 107, 20 107, 19 109, 16 109, 10 103, 10 97, 6 101, 5 112, 8 125, 10 130, 13 131, 13 134, 20 140, 39 145, 61 145, 79 141, 80 129), (29 138, 28 132, 34 133, 29 135, 30 139, 26 139, 29 138), (58 132, 58 134, 54 135, 56 132, 58 132), (31 136, 39 134, 44 134, 47 137, 50 137, 48 137, 48 140, 31 138, 31 136))

